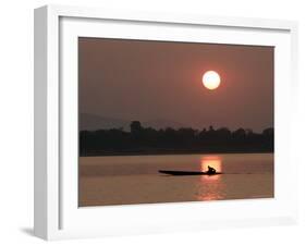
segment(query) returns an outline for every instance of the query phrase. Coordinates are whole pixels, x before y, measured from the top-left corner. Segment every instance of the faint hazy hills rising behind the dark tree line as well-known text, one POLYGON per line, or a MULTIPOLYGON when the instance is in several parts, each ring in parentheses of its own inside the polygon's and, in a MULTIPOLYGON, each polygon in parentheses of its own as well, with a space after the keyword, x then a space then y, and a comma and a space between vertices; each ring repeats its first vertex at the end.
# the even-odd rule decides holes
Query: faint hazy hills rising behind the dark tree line
MULTIPOLYGON (((122 127, 124 131, 130 131, 131 121, 126 121, 122 119, 103 118, 100 115, 89 114, 89 113, 81 113, 79 130, 95 131, 100 128, 109 130, 109 128, 122 127)), ((185 125, 179 122, 169 121, 169 120, 147 121, 147 122, 142 122, 142 124, 144 127, 152 127, 156 130, 167 128, 167 127, 172 127, 172 128, 185 127, 185 125)))

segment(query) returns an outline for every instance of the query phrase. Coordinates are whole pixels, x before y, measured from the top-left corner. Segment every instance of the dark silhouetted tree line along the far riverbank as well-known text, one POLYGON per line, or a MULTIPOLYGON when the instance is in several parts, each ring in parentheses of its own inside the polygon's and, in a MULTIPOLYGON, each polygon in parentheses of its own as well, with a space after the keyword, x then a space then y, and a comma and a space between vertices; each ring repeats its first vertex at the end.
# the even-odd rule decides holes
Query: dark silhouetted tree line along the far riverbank
POLYGON ((255 133, 252 130, 213 126, 201 131, 192 127, 144 127, 139 121, 130 124, 131 131, 110 128, 79 132, 81 156, 158 155, 200 152, 272 152, 272 127, 255 133))

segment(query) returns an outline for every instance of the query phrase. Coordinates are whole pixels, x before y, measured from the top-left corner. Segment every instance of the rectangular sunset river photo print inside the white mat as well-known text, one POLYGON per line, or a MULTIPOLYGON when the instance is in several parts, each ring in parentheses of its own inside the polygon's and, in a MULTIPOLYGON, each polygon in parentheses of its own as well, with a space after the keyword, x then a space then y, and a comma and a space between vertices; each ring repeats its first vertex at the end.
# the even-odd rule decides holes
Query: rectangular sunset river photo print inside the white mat
POLYGON ((78 37, 78 206, 272 198, 273 60, 78 37))

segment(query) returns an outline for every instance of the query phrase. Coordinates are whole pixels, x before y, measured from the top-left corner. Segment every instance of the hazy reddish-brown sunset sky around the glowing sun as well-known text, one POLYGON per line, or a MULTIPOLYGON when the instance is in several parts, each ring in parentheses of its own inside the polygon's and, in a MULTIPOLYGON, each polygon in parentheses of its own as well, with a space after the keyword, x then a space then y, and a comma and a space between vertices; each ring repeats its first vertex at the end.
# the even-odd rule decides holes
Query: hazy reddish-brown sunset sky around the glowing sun
POLYGON ((273 47, 79 38, 79 112, 203 128, 273 126, 273 47), (203 74, 221 76, 216 90, 203 74))

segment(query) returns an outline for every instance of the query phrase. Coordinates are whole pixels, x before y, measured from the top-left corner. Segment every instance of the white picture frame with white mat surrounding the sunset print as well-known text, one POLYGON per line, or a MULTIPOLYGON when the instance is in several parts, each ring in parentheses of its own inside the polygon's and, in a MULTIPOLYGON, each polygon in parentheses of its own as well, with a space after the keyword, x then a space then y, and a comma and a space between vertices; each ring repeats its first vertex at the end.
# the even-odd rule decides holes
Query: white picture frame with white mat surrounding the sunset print
POLYGON ((36 9, 35 235, 45 239, 60 239, 295 223, 297 195, 292 190, 297 186, 297 181, 293 177, 297 163, 294 163, 290 152, 290 131, 296 121, 292 110, 296 103, 294 95, 297 89, 296 35, 297 24, 290 21, 61 5, 36 9), (78 208, 75 148, 75 40, 78 36, 274 46, 276 197, 78 208), (287 164, 291 167, 290 173, 287 164))

